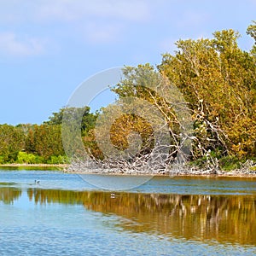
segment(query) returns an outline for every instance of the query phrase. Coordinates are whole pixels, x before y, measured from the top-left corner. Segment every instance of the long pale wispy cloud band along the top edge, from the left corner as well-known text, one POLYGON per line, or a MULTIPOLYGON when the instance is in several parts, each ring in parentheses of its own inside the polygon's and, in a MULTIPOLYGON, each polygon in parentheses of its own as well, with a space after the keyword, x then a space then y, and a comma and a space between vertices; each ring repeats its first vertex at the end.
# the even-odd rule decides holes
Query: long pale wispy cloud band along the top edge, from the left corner
POLYGON ((152 15, 147 0, 0 0, 1 22, 74 21, 90 18, 147 21, 152 15))

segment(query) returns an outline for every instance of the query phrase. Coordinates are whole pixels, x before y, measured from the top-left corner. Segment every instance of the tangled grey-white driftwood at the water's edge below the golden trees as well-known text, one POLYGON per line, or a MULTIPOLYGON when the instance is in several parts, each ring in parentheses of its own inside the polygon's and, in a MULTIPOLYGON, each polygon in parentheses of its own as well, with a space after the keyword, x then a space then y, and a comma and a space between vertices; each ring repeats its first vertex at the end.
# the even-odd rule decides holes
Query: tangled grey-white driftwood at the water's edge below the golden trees
POLYGON ((126 174, 126 175, 218 175, 218 176, 256 176, 253 161, 247 160, 241 166, 241 169, 236 169, 230 172, 224 172, 218 166, 209 166, 207 169, 199 169, 189 165, 160 165, 156 166, 152 162, 148 163, 145 159, 137 159, 129 162, 127 160, 95 160, 79 158, 74 159, 65 172, 78 172, 83 174, 126 174))

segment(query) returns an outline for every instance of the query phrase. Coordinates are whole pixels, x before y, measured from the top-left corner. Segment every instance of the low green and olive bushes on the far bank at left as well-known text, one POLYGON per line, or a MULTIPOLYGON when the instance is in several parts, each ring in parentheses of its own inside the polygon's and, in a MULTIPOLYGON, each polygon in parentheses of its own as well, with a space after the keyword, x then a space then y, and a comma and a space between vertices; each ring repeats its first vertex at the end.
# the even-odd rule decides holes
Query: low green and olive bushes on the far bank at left
POLYGON ((0 163, 61 163, 61 125, 0 125, 0 163))

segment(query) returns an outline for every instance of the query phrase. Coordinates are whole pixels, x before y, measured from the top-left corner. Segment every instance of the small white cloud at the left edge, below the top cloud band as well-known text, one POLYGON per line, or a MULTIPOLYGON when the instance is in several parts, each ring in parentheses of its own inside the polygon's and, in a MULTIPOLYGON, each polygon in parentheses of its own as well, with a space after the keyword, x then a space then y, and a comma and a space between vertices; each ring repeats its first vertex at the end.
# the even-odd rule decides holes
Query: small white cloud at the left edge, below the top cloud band
POLYGON ((18 38, 14 32, 0 33, 0 55, 41 55, 44 44, 38 38, 18 38))

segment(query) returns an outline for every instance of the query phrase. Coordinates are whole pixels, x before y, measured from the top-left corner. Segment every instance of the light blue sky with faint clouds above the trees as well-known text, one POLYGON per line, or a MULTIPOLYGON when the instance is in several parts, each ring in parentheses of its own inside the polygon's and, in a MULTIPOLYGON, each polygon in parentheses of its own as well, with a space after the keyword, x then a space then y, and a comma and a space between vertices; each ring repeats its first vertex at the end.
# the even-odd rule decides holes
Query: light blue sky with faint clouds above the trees
POLYGON ((233 28, 249 50, 255 14, 256 0, 0 0, 0 124, 41 124, 84 79, 159 64, 179 38, 233 28))

